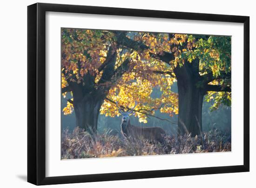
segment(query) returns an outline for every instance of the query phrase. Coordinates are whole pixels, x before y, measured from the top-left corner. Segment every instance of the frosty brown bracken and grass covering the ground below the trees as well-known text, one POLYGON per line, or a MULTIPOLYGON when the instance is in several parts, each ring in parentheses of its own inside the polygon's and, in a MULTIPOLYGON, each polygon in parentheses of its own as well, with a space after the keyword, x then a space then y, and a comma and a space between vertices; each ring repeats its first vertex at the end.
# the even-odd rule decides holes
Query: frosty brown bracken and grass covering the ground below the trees
POLYGON ((231 151, 231 136, 219 129, 192 137, 165 136, 164 146, 141 139, 125 139, 112 135, 111 131, 92 137, 80 128, 72 133, 67 129, 61 134, 61 159, 81 159, 97 157, 140 156, 159 154, 188 154, 231 151))

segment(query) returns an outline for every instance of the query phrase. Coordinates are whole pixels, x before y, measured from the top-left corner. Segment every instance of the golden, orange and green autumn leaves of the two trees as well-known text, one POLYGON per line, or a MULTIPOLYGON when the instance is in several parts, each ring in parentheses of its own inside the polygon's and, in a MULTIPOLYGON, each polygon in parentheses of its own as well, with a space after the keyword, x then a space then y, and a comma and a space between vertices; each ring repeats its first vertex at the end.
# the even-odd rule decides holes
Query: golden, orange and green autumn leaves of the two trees
POLYGON ((228 36, 62 28, 62 94, 66 97, 70 92, 73 97, 66 97, 63 113, 73 113, 75 105, 89 95, 100 95, 99 112, 106 116, 119 115, 115 101, 124 108, 136 101, 135 116, 143 123, 156 110, 170 116, 179 114, 178 94, 171 89, 177 81, 175 73, 185 64, 193 68, 196 60, 195 87, 206 94, 206 101, 215 101, 212 109, 221 103, 230 106, 228 36), (81 88, 81 94, 74 85, 81 88), (161 95, 152 97, 155 90, 161 95))

